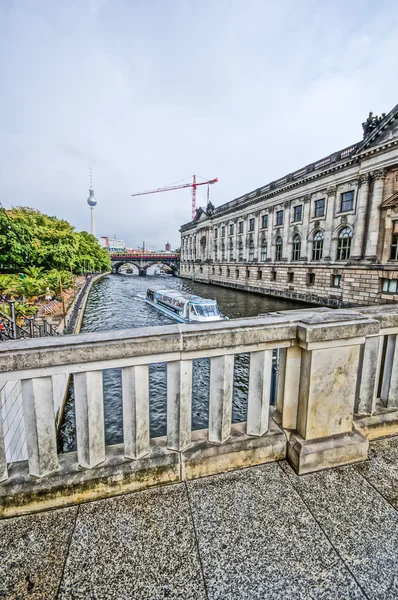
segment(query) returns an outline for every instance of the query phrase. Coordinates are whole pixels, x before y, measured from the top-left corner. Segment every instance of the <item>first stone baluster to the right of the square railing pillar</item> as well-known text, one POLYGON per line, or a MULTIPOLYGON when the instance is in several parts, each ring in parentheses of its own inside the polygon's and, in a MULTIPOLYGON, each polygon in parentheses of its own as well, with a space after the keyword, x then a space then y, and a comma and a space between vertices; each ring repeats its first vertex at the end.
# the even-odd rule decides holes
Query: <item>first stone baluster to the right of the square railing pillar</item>
POLYGON ((376 408, 377 385, 381 364, 380 336, 369 336, 361 346, 355 412, 372 415, 376 408))

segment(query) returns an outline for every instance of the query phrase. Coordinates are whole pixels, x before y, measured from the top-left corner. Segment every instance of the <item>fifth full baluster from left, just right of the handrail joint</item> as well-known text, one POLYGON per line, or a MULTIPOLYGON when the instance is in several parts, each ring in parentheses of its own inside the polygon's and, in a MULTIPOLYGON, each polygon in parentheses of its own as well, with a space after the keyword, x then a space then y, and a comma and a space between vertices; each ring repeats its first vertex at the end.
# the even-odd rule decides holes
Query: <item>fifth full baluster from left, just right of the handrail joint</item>
POLYGON ((233 354, 210 359, 209 442, 231 436, 233 376, 233 354))

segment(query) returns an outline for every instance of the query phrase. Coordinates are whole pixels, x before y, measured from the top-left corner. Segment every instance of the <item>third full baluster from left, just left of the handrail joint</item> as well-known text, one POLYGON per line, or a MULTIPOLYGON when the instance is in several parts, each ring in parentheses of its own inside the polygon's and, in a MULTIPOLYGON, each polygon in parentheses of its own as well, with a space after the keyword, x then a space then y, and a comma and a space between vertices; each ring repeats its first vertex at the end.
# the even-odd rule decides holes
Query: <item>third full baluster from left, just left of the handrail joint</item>
POLYGON ((127 458, 150 451, 148 366, 122 368, 123 440, 127 458))

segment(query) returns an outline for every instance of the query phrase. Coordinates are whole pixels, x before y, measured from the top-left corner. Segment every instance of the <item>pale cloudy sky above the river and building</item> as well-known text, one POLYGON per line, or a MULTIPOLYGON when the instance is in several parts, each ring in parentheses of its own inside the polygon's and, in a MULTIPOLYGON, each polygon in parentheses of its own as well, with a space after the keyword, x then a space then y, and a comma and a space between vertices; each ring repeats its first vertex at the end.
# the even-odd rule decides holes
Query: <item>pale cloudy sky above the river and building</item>
POLYGON ((398 103, 396 0, 0 0, 0 202, 150 249, 398 103), (189 179, 187 179, 188 181, 189 179), (198 204, 206 202, 206 186, 198 204))

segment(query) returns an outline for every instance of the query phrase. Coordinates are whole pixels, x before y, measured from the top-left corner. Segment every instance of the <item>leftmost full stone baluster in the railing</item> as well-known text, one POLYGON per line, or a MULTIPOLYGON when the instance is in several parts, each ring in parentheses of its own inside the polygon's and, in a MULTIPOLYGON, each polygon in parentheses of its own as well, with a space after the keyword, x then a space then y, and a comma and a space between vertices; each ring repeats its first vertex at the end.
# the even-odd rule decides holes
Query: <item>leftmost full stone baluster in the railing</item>
POLYGON ((21 381, 29 474, 43 477, 58 469, 51 377, 21 381))

